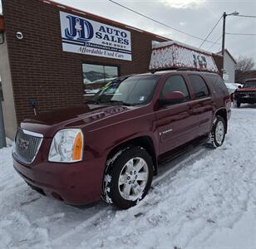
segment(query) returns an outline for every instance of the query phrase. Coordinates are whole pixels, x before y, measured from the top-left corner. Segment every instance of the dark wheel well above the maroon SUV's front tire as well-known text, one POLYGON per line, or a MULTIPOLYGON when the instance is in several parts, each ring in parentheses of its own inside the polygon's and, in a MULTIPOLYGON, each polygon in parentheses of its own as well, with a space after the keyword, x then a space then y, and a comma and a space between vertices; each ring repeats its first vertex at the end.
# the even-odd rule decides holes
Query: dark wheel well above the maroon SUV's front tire
POLYGON ((153 144, 153 140, 149 136, 141 136, 135 139, 130 139, 123 144, 117 145, 114 149, 111 149, 111 152, 108 154, 106 162, 111 159, 115 154, 117 154, 121 149, 126 149, 129 146, 140 146, 145 149, 150 156, 152 157, 153 165, 154 165, 154 174, 157 174, 157 158, 155 155, 155 147, 153 144))

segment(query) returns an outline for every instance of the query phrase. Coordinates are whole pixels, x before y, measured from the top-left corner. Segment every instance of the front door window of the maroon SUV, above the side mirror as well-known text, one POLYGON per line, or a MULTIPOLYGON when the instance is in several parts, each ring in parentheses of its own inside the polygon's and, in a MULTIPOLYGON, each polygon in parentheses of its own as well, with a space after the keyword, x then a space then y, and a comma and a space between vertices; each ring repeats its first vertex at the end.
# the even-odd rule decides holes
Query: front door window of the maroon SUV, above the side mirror
POLYGON ((165 81, 160 98, 164 98, 166 94, 174 91, 182 92, 185 95, 185 100, 190 100, 190 94, 182 76, 170 76, 170 78, 165 81))

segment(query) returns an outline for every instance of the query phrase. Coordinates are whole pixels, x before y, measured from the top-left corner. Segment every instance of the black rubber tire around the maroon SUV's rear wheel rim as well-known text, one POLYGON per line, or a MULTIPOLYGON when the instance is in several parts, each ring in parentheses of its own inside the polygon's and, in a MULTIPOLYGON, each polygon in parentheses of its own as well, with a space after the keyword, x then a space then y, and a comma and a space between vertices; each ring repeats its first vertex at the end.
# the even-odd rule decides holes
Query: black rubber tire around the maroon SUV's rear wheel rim
POLYGON ((214 124, 213 124, 212 130, 209 134, 209 142, 207 143, 207 145, 209 145, 209 147, 214 148, 214 149, 221 146, 224 143, 225 135, 226 135, 225 120, 222 116, 218 115, 214 118, 214 124), (222 139, 219 139, 218 135, 217 135, 217 127, 218 127, 219 123, 222 123, 223 129, 224 129, 222 139))

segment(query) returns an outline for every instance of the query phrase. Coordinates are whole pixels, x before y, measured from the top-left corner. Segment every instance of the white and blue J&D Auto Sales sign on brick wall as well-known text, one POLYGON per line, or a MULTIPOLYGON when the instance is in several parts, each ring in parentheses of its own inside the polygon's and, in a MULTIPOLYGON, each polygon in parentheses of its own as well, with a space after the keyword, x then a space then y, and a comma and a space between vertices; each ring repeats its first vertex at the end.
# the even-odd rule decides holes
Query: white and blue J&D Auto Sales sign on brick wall
POLYGON ((130 32, 60 12, 63 51, 131 61, 130 32))

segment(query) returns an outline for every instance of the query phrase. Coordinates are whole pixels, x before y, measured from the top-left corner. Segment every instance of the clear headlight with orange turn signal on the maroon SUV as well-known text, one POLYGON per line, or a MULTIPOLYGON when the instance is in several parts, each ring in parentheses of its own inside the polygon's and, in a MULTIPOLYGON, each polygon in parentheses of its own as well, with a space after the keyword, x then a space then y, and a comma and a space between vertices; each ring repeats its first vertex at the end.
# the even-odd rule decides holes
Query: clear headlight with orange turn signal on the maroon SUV
POLYGON ((81 161, 83 140, 81 129, 62 129, 58 131, 52 140, 48 160, 59 163, 81 161))

